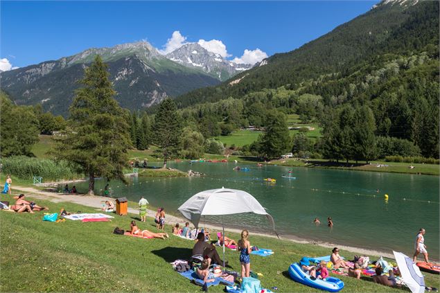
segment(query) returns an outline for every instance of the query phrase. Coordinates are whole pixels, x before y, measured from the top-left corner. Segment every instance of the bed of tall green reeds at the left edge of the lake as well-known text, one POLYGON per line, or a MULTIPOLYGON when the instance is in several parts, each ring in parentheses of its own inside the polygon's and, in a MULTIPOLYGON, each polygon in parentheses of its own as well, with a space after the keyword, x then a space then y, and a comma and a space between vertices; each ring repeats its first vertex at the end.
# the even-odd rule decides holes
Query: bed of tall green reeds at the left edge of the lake
POLYGON ((78 174, 76 168, 67 161, 56 162, 51 159, 37 159, 26 156, 2 158, 2 172, 20 179, 32 179, 34 176, 43 177, 43 180, 78 179, 84 177, 78 174))

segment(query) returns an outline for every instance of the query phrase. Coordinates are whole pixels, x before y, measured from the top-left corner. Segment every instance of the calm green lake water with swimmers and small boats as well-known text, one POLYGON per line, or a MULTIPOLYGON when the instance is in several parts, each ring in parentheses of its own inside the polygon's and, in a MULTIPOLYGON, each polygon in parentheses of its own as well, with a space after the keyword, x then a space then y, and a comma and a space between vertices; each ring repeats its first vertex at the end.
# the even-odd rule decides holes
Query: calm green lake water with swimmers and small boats
MULTIPOLYGON (((166 211, 177 208, 202 190, 235 188, 245 190, 267 208, 275 220, 276 230, 284 236, 336 243, 385 251, 414 253, 419 228, 426 229, 425 245, 430 258, 439 260, 439 177, 385 172, 360 172, 284 166, 243 165, 249 172, 234 171, 234 163, 169 163, 179 170, 195 170, 204 177, 152 179, 132 177, 127 186, 111 182, 113 197, 139 200, 144 195, 153 206, 166 211), (288 175, 297 179, 285 179, 288 175), (263 178, 276 179, 268 184, 263 178), (379 189, 379 193, 376 192, 379 189), (384 195, 389 195, 385 201, 384 195), (333 219, 332 229, 326 219, 333 219), (322 224, 315 226, 318 217, 322 224)), ((105 181, 96 181, 96 190, 105 181)), ((87 191, 87 183, 77 184, 87 191)), ((210 217, 207 222, 218 223, 210 217)), ((265 217, 242 214, 225 217, 229 227, 248 228, 270 233, 265 217)))

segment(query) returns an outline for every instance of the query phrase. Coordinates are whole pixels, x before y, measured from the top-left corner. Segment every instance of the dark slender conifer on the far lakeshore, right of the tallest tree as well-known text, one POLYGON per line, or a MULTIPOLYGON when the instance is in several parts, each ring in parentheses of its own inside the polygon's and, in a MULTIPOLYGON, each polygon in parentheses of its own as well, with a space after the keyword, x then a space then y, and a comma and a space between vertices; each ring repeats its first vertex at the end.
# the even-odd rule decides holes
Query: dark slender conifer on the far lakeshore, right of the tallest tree
POLYGON ((152 128, 155 134, 155 143, 164 154, 163 168, 166 168, 168 159, 179 154, 180 137, 182 135, 180 117, 173 100, 167 98, 160 103, 152 128))

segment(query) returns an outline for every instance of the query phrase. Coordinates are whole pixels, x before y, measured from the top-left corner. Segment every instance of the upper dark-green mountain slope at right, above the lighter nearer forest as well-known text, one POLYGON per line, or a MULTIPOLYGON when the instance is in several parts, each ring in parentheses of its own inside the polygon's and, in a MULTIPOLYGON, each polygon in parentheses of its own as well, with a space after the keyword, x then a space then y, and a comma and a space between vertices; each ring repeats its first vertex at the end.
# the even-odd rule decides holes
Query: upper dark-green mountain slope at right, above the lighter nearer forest
POLYGON ((243 98, 261 89, 302 89, 306 82, 336 80, 378 55, 438 46, 439 1, 382 0, 371 10, 287 53, 276 53, 248 71, 177 97, 179 107, 243 98), (419 33, 421 32, 421 33, 419 33))

